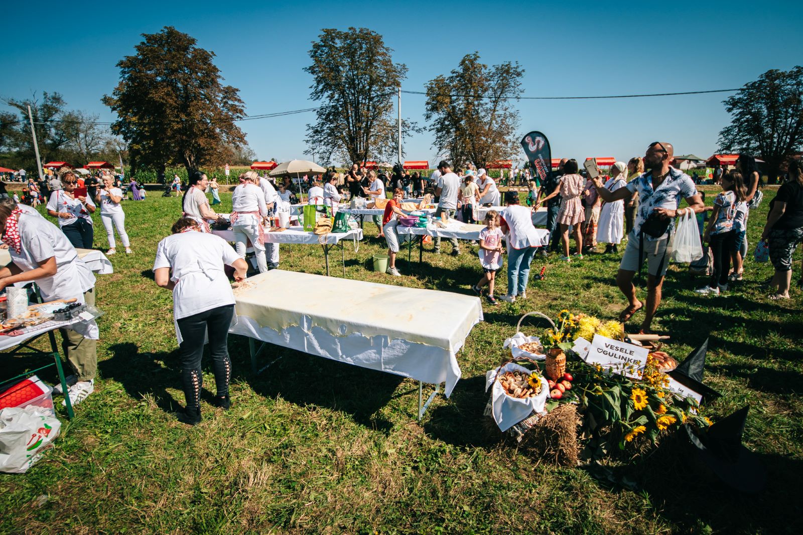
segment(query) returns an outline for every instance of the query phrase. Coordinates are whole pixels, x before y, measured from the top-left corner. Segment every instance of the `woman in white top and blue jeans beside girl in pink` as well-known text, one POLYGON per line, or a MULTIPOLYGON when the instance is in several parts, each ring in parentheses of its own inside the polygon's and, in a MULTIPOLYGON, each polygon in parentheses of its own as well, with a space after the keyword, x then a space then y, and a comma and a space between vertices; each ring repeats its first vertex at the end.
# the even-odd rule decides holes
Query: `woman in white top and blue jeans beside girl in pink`
POLYGON ((536 227, 532 226, 532 210, 519 205, 518 192, 508 191, 504 201, 507 207, 500 214, 500 223, 507 235, 507 295, 499 299, 513 303, 516 296, 527 297, 530 264, 540 243, 536 227))

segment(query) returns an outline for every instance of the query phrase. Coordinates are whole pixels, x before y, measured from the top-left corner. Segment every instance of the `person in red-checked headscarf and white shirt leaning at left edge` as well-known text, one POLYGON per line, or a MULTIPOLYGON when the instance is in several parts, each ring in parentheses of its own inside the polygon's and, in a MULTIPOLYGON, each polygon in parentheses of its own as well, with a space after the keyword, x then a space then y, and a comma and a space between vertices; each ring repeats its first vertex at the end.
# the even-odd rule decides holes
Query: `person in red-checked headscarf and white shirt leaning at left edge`
MULTIPOLYGON (((0 268, 0 290, 35 281, 45 301, 75 299, 95 304, 95 276, 53 223, 19 208, 0 206, 0 233, 11 256, 11 263, 0 268)), ((77 379, 67 398, 76 405, 95 390, 98 326, 94 320, 81 321, 60 330, 75 373, 72 379, 77 379)), ((67 399, 62 404, 66 406, 67 399)))

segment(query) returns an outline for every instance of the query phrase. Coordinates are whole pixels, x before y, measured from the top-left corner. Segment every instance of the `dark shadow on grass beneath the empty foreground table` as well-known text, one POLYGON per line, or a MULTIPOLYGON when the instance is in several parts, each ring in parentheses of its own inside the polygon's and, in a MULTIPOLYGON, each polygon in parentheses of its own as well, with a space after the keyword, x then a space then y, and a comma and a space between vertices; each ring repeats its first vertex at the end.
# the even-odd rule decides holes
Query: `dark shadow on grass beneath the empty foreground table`
MULTIPOLYGON (((230 348, 238 343, 244 345, 244 351, 237 353, 244 354, 245 359, 249 360, 233 359, 234 366, 240 370, 251 370, 247 341, 243 337, 230 337, 230 348)), ((389 434, 393 423, 377 416, 377 411, 391 399, 410 394, 404 392, 394 395, 404 381, 398 375, 268 344, 259 356, 259 366, 266 366, 271 361, 273 363, 263 373, 249 374, 247 377, 256 394, 266 398, 281 397, 298 406, 314 405, 338 410, 351 415, 356 423, 385 434, 389 434)))

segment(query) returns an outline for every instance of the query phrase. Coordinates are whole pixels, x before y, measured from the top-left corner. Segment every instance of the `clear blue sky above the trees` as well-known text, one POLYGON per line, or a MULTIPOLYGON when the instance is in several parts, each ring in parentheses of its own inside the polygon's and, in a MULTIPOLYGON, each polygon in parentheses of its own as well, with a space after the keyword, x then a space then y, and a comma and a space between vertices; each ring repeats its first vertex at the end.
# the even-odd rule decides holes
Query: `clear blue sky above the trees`
MULTIPOLYGON (((797 3, 797 2, 796 2, 797 3)), ((770 68, 803 63, 803 10, 793 2, 13 2, 4 7, 0 96, 60 92, 70 108, 112 120, 100 97, 116 62, 142 33, 172 25, 217 55, 249 115, 310 108, 302 71, 324 27, 367 27, 409 68, 406 90, 479 51, 484 63, 518 61, 525 96, 621 95, 739 88, 770 68), (65 7, 65 6, 68 6, 65 7), (35 22, 43 35, 26 31, 35 22), (44 72, 59 75, 43 74, 44 72)), ((728 124, 730 93, 618 100, 521 100, 521 134, 538 129, 553 157, 642 155, 650 141, 708 157, 728 124)), ((403 95, 402 115, 423 123, 424 96, 403 95)), ((260 158, 304 157, 314 114, 240 123, 260 158)), ((433 161, 429 133, 406 158, 433 161)), ((520 158, 523 160, 524 155, 520 158)))

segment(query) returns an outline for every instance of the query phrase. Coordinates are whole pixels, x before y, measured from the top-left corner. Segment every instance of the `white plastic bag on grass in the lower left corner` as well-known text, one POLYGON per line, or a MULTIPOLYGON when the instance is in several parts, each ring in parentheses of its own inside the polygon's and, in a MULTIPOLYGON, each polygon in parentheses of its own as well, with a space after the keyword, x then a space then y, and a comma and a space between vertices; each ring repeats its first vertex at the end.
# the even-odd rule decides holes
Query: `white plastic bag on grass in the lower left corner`
POLYGON ((52 447, 61 422, 38 406, 0 410, 0 472, 22 474, 52 447))

